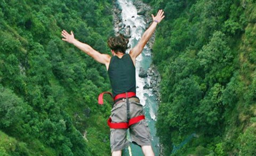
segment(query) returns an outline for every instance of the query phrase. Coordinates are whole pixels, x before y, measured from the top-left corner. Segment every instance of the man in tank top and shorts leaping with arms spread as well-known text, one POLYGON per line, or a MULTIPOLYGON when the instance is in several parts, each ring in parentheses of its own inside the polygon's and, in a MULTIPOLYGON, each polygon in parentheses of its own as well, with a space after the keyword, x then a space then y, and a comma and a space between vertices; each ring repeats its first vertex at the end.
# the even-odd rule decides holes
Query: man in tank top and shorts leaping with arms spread
MULTIPOLYGON (((108 125, 111 128, 110 146, 112 155, 121 156, 122 149, 129 145, 126 140, 126 128, 130 128, 132 141, 141 146, 145 155, 154 155, 149 129, 147 123, 143 120, 145 117, 143 116, 142 105, 140 105, 135 94, 135 59, 140 55, 154 33, 157 24, 163 20, 164 12, 159 10, 156 16, 153 14, 151 16, 153 23, 143 33, 141 40, 131 49, 129 54, 125 54, 127 41, 122 35, 108 39, 108 46, 113 55, 111 57, 108 54, 101 54, 91 46, 76 40, 72 31, 71 34, 65 30, 61 33, 63 41, 75 45, 97 62, 105 64, 107 68, 115 100, 115 105, 108 120, 108 125)), ((103 94, 101 96, 103 97, 103 94)))

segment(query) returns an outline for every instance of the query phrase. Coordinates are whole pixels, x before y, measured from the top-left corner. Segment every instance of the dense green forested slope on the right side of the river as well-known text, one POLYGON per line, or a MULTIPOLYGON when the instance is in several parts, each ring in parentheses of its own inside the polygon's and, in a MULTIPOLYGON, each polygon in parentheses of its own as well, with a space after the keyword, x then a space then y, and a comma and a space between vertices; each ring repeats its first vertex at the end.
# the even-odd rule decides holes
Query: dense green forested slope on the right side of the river
POLYGON ((153 47, 164 153, 256 155, 255 0, 144 2, 166 15, 153 47))

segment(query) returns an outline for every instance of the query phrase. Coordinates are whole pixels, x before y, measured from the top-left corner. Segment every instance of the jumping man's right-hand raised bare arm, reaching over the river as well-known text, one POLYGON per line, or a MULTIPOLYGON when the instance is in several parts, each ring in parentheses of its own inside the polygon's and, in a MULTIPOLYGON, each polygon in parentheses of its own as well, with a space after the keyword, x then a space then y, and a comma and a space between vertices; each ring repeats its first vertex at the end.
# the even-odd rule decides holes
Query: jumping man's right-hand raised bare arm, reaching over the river
POLYGON ((130 51, 130 55, 131 55, 131 58, 133 60, 133 63, 135 63, 136 57, 138 55, 140 55, 140 53, 142 52, 143 48, 147 44, 148 40, 150 39, 150 37, 154 33, 154 31, 156 29, 156 25, 163 20, 164 12, 163 12, 163 10, 159 10, 156 16, 154 16, 153 14, 151 14, 151 16, 152 16, 152 19, 153 19, 153 23, 143 33, 143 35, 141 37, 141 40, 138 42, 138 44, 134 48, 132 48, 131 51, 130 51))

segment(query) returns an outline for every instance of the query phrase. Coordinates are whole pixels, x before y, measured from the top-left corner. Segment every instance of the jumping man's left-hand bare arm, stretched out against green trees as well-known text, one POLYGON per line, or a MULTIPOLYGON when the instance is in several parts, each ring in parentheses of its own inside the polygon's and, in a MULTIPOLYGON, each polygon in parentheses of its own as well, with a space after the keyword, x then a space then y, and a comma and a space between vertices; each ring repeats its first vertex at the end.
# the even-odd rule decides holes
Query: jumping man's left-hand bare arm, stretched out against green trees
POLYGON ((109 55, 101 54, 101 53, 99 53, 99 51, 94 50, 91 46, 78 41, 77 39, 75 39, 72 31, 71 31, 71 34, 69 34, 66 30, 63 30, 61 32, 61 36, 63 37, 62 38, 63 41, 67 41, 70 44, 73 44, 78 49, 84 51, 84 53, 88 54, 93 59, 97 60, 97 62, 105 64, 108 69, 108 65, 109 65, 110 58, 111 58, 109 55))

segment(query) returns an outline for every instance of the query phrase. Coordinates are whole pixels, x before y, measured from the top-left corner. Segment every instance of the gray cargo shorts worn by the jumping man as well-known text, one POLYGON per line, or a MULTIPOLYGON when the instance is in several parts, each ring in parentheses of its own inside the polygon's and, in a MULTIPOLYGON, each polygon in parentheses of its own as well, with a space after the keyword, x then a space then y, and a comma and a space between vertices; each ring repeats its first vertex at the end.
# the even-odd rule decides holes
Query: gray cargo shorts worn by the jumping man
MULTIPOLYGON (((130 118, 144 115, 142 105, 138 98, 129 98, 130 102, 130 118)), ((126 99, 115 104, 111 110, 112 123, 127 122, 126 99)), ((125 149, 130 142, 126 139, 127 129, 110 128, 110 147, 111 152, 125 149)), ((140 146, 151 145, 151 136, 146 120, 133 124, 129 128, 132 142, 140 146)))

